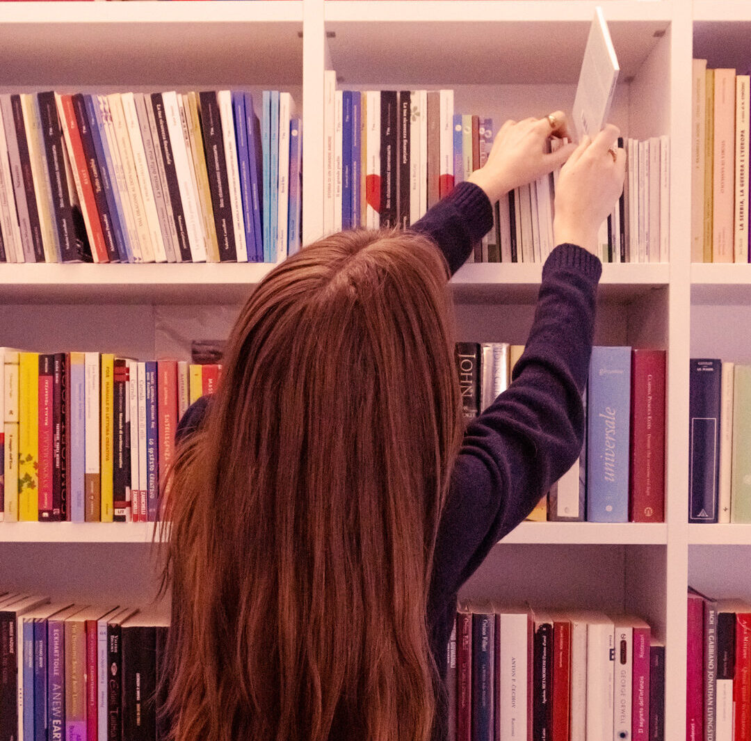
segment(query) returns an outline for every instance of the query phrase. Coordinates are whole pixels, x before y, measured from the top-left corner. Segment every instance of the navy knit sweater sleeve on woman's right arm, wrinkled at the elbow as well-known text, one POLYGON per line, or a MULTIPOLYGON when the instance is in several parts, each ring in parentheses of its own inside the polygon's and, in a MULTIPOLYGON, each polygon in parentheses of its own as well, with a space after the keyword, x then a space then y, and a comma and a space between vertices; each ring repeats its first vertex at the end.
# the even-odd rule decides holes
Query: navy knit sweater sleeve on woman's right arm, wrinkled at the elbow
POLYGON ((580 455, 601 272, 581 247, 550 253, 512 383, 467 425, 439 526, 433 597, 456 594, 580 455))

